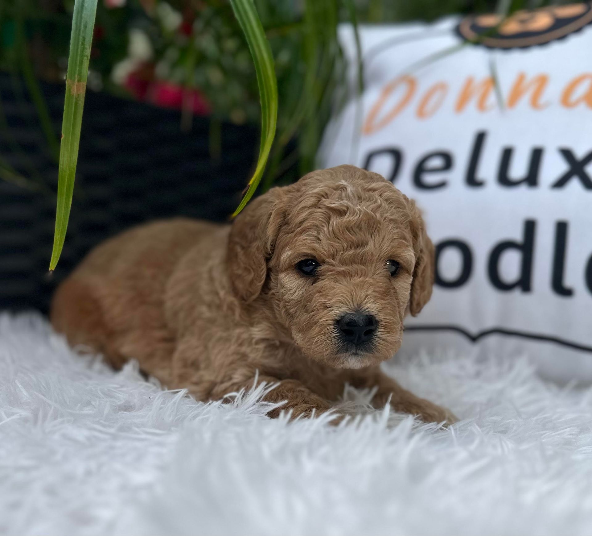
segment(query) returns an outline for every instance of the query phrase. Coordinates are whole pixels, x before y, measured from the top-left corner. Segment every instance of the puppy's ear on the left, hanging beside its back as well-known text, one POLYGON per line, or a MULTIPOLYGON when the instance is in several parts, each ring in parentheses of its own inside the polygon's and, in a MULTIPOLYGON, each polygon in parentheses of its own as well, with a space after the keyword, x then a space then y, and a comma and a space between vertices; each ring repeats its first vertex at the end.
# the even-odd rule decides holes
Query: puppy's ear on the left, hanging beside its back
POLYGON ((253 200, 236 217, 230 229, 226 266, 237 296, 253 301, 267 276, 267 261, 284 219, 281 188, 272 188, 253 200))

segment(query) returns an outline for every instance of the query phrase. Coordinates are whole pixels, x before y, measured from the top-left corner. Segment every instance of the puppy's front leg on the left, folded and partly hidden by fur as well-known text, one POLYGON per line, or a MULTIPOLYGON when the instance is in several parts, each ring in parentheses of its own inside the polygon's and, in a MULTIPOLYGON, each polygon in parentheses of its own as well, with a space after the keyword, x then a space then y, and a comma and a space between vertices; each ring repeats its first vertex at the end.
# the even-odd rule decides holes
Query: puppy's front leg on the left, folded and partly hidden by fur
MULTIPOLYGON (((299 416, 310 416, 313 413, 318 415, 331 409, 332 405, 329 400, 324 399, 318 394, 313 393, 310 389, 304 386, 298 380, 278 380, 268 375, 259 375, 257 383, 276 384, 276 387, 269 391, 263 397, 266 402, 278 403, 286 401, 282 406, 272 410, 268 413, 271 418, 276 418, 282 411, 288 412, 291 410, 291 418, 297 418, 299 416)), ((240 384, 221 384, 217 386, 212 393, 212 397, 220 399, 224 394, 231 391, 238 391, 240 389, 249 390, 255 384, 255 378, 241 382, 240 384)))

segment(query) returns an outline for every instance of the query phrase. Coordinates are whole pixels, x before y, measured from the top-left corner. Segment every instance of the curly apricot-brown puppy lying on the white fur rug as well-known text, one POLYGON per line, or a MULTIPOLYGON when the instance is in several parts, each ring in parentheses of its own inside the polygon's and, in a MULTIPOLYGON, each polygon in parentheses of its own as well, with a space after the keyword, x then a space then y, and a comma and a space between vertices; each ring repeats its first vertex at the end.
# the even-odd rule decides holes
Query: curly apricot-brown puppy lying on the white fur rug
POLYGON ((415 203, 354 166, 272 188, 231 225, 146 224, 94 249, 60 285, 54 328, 115 367, 217 400, 257 381, 292 417, 326 412, 346 383, 423 421, 446 409, 379 363, 432 294, 434 249, 415 203))

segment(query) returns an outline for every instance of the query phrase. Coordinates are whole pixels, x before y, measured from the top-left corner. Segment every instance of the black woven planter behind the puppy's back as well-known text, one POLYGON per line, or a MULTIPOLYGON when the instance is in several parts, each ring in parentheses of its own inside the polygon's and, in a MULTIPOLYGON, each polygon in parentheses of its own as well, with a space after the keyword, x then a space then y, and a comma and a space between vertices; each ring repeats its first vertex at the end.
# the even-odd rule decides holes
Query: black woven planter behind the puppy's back
MULTIPOLYGON (((57 165, 16 82, 0 74, 8 123, 0 130, 0 162, 27 175, 33 168, 49 192, 0 179, 0 310, 47 312, 56 284, 89 249, 127 227, 172 216, 223 221, 236 208, 256 157, 257 130, 224 124, 221 158, 214 161, 208 119, 195 117, 184 132, 178 111, 88 92, 66 244, 50 277, 57 165)), ((64 88, 42 88, 59 132, 64 88)))

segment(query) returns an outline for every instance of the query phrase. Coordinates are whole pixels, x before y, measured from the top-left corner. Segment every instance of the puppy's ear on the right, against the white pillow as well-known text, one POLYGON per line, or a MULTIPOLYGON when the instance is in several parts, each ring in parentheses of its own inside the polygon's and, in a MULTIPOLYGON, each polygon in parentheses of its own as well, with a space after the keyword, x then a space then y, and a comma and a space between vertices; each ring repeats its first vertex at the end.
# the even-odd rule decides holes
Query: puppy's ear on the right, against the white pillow
POLYGON ((413 233, 413 249, 415 250, 415 267, 413 269, 413 281, 411 281, 411 296, 409 310, 413 316, 417 316, 423 306, 432 296, 434 285, 435 250, 432 240, 427 236, 426 225, 419 209, 414 201, 411 205, 413 233))

